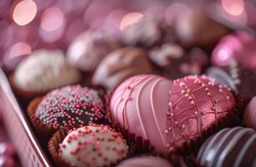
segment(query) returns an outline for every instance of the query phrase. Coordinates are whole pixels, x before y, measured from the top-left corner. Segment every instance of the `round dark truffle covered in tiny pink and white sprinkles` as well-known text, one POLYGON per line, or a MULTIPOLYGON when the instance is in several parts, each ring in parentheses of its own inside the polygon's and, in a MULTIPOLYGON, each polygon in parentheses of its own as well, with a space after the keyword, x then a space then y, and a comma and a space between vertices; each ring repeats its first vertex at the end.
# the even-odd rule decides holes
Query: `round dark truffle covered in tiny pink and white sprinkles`
POLYGON ((104 119, 105 109, 96 90, 74 85, 46 94, 38 104, 35 117, 40 123, 57 129, 79 128, 90 121, 104 119))

